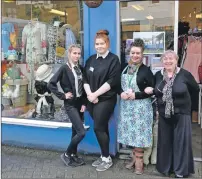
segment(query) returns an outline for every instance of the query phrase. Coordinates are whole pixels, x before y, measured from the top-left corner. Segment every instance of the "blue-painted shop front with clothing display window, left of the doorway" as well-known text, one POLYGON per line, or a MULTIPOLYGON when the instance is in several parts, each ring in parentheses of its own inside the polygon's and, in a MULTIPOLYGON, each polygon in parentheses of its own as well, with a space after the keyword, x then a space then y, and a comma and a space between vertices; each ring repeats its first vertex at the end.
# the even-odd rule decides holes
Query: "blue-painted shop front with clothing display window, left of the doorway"
MULTIPOLYGON (((3 144, 66 149, 71 138, 71 123, 63 102, 46 91, 46 85, 65 63, 69 45, 81 44, 84 54, 81 64, 95 53, 94 35, 98 29, 106 28, 111 32, 111 50, 118 53, 117 16, 112 13, 116 9, 115 2, 103 3, 95 9, 81 1, 2 2, 3 144), (37 69, 44 64, 47 68, 37 76, 37 69), (41 84, 37 82, 39 78, 41 84)), ((110 122, 113 155, 117 152, 116 116, 117 108, 110 122)), ((88 112, 84 125, 87 134, 80 150, 99 153, 88 112)))

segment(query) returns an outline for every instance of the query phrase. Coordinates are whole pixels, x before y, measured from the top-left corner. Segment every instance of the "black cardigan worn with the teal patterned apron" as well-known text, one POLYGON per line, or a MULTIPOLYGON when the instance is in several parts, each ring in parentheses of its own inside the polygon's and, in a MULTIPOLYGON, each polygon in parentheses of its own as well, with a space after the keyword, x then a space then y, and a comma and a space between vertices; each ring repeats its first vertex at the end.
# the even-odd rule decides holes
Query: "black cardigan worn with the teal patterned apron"
MULTIPOLYGON (((127 73, 127 70, 124 72, 124 74, 125 73, 127 73)), ((140 92, 135 92, 135 99, 145 99, 151 97, 152 95, 148 95, 144 92, 146 87, 154 87, 154 75, 150 68, 144 64, 141 64, 137 72, 136 80, 140 92)), ((121 89, 119 93, 121 94, 122 92, 123 89, 121 89)))

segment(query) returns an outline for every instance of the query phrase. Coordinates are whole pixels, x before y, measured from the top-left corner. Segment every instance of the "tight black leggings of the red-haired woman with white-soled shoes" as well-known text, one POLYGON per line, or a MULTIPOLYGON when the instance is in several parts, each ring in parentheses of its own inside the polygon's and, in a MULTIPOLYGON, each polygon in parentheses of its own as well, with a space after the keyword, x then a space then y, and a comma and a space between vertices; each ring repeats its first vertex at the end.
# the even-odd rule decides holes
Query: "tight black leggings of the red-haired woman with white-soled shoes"
POLYGON ((96 104, 89 103, 88 111, 94 120, 94 132, 101 148, 101 154, 104 157, 109 156, 109 129, 108 123, 114 111, 117 97, 114 96, 106 101, 96 104))

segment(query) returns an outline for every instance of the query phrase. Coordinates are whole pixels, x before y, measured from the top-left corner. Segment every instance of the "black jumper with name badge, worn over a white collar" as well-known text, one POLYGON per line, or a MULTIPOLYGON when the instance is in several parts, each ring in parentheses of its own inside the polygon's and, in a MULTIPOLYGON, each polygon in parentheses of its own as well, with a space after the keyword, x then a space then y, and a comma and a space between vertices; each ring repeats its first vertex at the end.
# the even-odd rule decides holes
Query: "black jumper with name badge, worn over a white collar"
POLYGON ((92 55, 84 69, 84 84, 90 85, 92 92, 97 91, 105 82, 111 89, 98 97, 99 101, 107 100, 117 94, 120 89, 121 64, 117 55, 109 52, 103 59, 92 55))

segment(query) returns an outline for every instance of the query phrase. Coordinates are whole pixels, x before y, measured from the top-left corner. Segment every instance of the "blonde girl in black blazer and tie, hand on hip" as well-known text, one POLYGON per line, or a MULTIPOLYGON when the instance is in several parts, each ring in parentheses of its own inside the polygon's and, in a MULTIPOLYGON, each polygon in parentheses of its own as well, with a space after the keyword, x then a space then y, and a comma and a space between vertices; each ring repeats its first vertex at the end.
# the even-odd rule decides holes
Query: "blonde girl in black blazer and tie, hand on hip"
POLYGON ((84 164, 83 159, 77 156, 78 144, 85 136, 82 117, 86 108, 86 95, 83 90, 83 69, 79 65, 81 47, 76 44, 71 45, 67 55, 67 63, 54 74, 48 83, 48 88, 64 101, 64 108, 72 122, 71 142, 66 152, 61 155, 61 159, 65 165, 75 167, 84 164), (58 90, 58 82, 64 92, 58 90))

